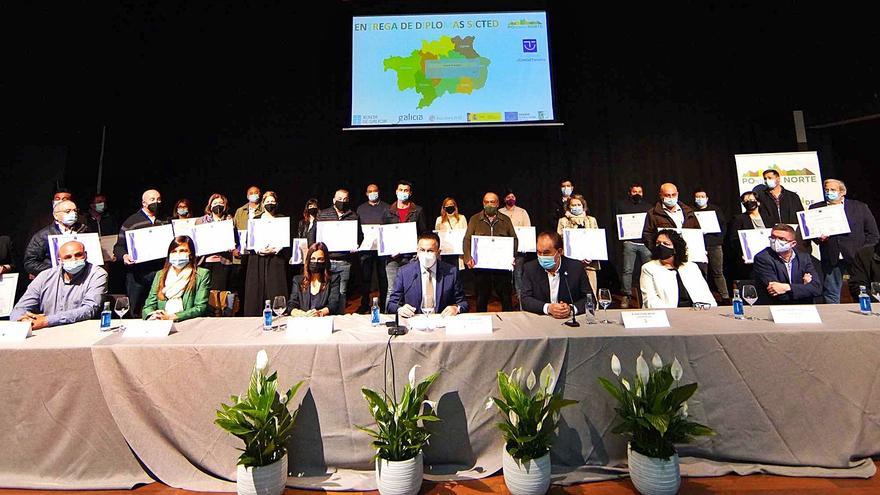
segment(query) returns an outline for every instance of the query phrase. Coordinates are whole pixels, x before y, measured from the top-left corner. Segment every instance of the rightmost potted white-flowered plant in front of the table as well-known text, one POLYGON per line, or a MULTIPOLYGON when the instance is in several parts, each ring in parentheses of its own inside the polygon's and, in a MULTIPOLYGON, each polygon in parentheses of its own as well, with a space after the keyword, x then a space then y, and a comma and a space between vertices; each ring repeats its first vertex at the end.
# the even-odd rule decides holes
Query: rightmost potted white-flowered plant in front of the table
POLYGON ((617 376, 616 385, 601 377, 599 382, 617 399, 615 411, 620 423, 611 431, 629 439, 627 458, 633 485, 644 495, 677 493, 681 472, 675 444, 715 434, 708 426, 687 419, 687 400, 697 391, 697 384, 679 385, 681 363, 676 358, 664 365, 656 353, 650 367, 639 354, 632 384, 620 376, 616 355, 611 356, 611 371, 617 376))

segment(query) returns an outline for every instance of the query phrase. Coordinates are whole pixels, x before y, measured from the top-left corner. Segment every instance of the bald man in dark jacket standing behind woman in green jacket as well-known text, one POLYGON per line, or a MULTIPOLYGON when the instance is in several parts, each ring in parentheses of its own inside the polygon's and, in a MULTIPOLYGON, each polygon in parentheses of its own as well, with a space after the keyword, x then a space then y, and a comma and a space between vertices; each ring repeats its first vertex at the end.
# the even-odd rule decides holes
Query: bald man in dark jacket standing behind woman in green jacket
POLYGON ((129 230, 137 230, 154 225, 165 225, 168 221, 161 217, 159 209, 162 205, 162 195, 155 189, 144 191, 141 195, 141 208, 134 212, 130 217, 122 222, 119 228, 119 237, 116 245, 113 246, 113 254, 116 259, 122 260, 125 264, 125 293, 131 305, 131 317, 140 317, 141 309, 150 286, 153 284, 153 277, 156 272, 164 266, 165 260, 159 259, 135 264, 131 256, 128 255, 128 246, 125 243, 125 232, 129 230))

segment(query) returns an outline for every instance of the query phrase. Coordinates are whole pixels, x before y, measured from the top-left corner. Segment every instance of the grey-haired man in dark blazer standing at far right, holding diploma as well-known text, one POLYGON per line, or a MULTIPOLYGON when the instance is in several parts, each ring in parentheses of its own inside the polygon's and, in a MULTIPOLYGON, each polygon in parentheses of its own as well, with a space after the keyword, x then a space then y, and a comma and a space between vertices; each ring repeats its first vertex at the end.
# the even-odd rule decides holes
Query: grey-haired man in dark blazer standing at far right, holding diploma
POLYGON ((846 184, 837 179, 827 179, 822 185, 825 188, 825 201, 813 203, 810 209, 843 205, 849 224, 849 234, 813 239, 822 254, 822 273, 825 275, 825 280, 822 281, 822 297, 827 304, 839 304, 843 274, 849 270, 860 249, 880 241, 880 233, 877 231, 877 220, 868 205, 845 198, 846 184))

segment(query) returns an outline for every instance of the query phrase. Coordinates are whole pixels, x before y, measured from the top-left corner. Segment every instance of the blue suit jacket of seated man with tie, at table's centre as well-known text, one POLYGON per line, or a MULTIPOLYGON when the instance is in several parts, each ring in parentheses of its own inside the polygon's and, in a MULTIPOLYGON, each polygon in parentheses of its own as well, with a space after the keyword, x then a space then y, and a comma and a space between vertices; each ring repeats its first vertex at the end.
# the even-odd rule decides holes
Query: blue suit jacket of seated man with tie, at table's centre
MULTIPOLYGON (((468 304, 461 288, 461 279, 458 278, 458 268, 438 260, 435 273, 437 290, 434 293, 434 311, 439 313, 447 306, 457 304, 461 312, 466 313, 468 304)), ((388 296, 388 312, 396 313, 404 304, 416 308, 417 313, 422 311, 422 269, 418 259, 403 265, 397 272, 394 288, 388 296)))

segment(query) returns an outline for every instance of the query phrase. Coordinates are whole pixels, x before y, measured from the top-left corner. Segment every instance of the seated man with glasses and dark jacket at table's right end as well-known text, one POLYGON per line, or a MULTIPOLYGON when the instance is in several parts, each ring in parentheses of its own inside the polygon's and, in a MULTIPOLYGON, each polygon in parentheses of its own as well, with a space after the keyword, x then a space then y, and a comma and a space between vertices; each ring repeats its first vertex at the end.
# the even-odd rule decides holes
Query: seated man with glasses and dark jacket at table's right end
POLYGON ((759 304, 813 304, 813 298, 822 295, 822 282, 810 254, 796 250, 796 245, 790 225, 773 226, 770 247, 755 255, 759 304))

